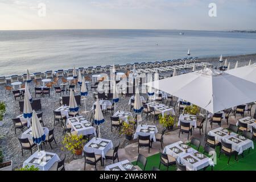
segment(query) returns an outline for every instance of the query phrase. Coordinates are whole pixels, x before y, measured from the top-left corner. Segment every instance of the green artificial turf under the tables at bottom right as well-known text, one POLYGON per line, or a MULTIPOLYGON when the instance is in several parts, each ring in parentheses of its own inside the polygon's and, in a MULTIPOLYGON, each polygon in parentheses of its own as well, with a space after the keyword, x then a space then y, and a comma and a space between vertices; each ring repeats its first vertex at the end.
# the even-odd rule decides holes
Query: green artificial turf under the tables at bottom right
MULTIPOLYGON (((256 142, 254 142, 255 146, 256 142)), ((195 146, 192 146, 195 148, 195 146)), ((195 148, 196 149, 196 148, 195 148)), ((250 154, 248 154, 248 150, 243 151, 244 158, 242 158, 242 155, 238 155, 238 160, 235 159, 235 155, 232 155, 230 158, 229 164, 228 164, 228 156, 225 156, 224 154, 221 154, 220 159, 218 159, 218 154, 220 147, 216 147, 216 153, 217 153, 217 164, 214 165, 213 171, 256 171, 256 149, 252 150, 250 149, 250 154)), ((199 149, 200 152, 203 153, 204 147, 200 146, 199 149)), ((152 156, 149 156, 147 158, 147 165, 146 165, 146 171, 151 171, 152 167, 159 168, 159 162, 160 162, 160 154, 155 154, 152 156)), ((136 162, 133 162, 134 165, 136 165, 136 162)), ((142 168, 142 165, 138 165, 142 168)), ((164 167, 161 164, 160 167, 161 171, 166 171, 167 167, 164 167)), ((176 166, 169 167, 169 171, 176 170, 176 166)), ((201 169, 203 170, 203 169, 201 169)), ((210 171, 211 167, 208 167, 206 171, 210 171)))

